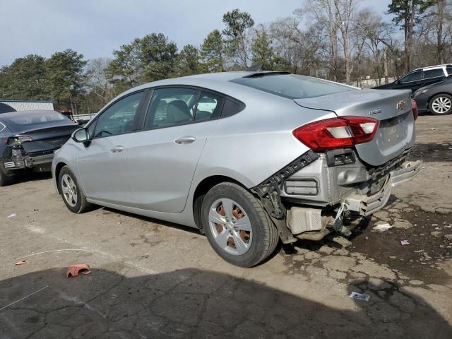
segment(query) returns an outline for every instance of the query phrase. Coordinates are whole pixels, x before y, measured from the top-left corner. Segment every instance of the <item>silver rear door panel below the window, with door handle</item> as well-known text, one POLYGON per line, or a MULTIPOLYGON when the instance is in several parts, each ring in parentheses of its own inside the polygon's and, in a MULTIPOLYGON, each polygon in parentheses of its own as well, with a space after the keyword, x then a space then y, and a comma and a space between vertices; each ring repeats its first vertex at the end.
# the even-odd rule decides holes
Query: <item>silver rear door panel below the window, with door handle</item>
POLYGON ((165 213, 184 210, 206 131, 216 123, 134 133, 126 163, 136 207, 165 213))

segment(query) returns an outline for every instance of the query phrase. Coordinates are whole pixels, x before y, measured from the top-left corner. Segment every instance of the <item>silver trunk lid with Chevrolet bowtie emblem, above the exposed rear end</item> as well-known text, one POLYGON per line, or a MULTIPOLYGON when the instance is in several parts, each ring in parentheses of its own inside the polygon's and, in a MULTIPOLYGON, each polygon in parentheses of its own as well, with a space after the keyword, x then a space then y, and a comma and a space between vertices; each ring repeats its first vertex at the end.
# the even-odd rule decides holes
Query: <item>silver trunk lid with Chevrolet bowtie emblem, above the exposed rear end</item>
POLYGON ((359 157, 369 165, 383 165, 415 143, 410 90, 352 90, 295 99, 295 102, 303 107, 335 112, 338 117, 378 119, 379 129, 374 139, 355 146, 359 157))

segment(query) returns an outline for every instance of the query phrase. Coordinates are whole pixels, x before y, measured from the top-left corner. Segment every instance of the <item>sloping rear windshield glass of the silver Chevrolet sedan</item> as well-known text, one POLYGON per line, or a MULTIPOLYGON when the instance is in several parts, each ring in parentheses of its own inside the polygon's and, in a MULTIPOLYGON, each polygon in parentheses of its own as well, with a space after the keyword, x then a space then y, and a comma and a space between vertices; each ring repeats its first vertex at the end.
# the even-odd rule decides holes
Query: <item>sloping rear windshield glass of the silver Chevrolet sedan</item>
POLYGON ((290 99, 321 97, 322 95, 356 90, 356 88, 341 85, 340 83, 311 78, 310 76, 299 76, 297 74, 267 73, 262 76, 237 78, 232 80, 232 82, 290 99))

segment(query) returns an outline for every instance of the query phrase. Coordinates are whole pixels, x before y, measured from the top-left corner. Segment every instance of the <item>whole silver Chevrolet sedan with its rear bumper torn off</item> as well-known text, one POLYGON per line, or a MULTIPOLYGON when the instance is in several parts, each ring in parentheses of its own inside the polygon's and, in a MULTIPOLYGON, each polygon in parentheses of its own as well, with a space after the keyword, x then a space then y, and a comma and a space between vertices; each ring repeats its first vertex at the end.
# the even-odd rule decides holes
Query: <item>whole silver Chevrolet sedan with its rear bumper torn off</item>
POLYGON ((66 206, 91 204, 196 227, 237 266, 278 242, 350 234, 420 171, 408 162, 409 90, 364 90, 284 72, 141 85, 55 153, 66 206))

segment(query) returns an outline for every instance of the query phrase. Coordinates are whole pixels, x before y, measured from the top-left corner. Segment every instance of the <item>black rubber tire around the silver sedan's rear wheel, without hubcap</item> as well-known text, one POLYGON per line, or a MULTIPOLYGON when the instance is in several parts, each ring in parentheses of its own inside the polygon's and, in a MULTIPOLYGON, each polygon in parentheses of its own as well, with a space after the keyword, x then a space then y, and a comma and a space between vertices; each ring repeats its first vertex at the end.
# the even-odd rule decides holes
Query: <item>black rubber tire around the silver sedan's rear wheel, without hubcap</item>
POLYGON ((242 186, 232 182, 223 182, 213 186, 203 199, 201 214, 203 230, 206 232, 206 237, 210 242, 210 246, 213 247, 219 256, 228 263, 232 263, 232 265, 241 267, 256 266, 270 256, 278 245, 278 230, 263 209, 261 201, 242 186), (215 241, 215 236, 213 234, 215 231, 210 228, 210 208, 215 201, 218 201, 218 199, 221 198, 231 199, 239 204, 239 206, 242 206, 244 213, 246 213, 249 218, 252 230, 252 241, 249 245, 249 249, 242 255, 230 254, 225 251, 225 249, 222 249, 215 241))

